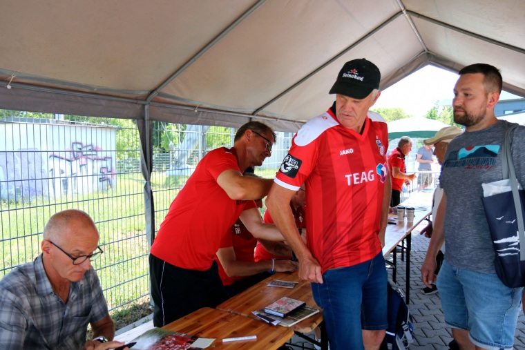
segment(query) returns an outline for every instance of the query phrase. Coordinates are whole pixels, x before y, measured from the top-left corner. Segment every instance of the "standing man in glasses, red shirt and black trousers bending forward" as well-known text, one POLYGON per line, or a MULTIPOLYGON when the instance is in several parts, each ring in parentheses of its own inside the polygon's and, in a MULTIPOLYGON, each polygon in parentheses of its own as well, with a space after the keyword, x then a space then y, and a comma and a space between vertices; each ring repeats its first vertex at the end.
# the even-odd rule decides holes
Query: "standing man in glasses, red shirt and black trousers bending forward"
MULTIPOLYGON (((260 222, 254 200, 265 197, 272 179, 243 176, 271 155, 275 133, 249 121, 237 131, 233 147, 220 147, 204 156, 169 207, 151 246, 153 324, 162 327, 202 307, 227 300, 215 254, 238 218, 260 222)), ((249 226, 249 225, 247 225, 249 226)), ((284 240, 275 225, 258 225, 257 239, 284 240)))

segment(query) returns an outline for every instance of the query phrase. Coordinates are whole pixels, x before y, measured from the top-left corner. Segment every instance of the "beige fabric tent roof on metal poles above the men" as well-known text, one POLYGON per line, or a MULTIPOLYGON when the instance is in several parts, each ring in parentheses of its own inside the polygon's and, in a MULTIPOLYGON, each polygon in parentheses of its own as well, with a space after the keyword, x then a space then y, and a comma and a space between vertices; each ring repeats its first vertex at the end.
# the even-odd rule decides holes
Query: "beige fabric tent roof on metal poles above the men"
POLYGON ((525 97, 524 1, 5 0, 0 108, 295 131, 345 61, 381 90, 479 61, 525 97), (504 23, 504 25, 502 25, 504 23), (14 75, 14 77, 12 77, 14 75), (6 89, 10 78, 11 89, 6 89))

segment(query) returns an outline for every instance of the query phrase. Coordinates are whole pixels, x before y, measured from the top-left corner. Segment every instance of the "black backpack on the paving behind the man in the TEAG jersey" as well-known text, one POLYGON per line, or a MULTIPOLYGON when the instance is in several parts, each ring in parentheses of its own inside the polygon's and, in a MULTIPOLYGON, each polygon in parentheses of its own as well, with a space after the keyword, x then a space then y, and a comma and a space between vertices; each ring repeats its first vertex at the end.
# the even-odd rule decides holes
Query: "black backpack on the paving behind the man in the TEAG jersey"
POLYGON ((388 328, 381 350, 405 350, 414 342, 414 327, 412 315, 408 311, 405 300, 390 283, 388 290, 388 328))

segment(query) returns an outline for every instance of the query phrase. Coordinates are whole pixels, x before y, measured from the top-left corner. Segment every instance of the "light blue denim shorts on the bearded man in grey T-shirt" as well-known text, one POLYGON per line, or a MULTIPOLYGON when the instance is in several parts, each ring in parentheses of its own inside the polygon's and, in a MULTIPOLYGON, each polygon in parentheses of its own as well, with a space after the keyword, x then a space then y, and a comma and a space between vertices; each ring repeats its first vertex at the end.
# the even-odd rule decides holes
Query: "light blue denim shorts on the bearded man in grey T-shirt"
POLYGON ((445 260, 437 289, 447 324, 469 331, 478 347, 513 348, 523 288, 508 288, 495 273, 458 269, 445 260))

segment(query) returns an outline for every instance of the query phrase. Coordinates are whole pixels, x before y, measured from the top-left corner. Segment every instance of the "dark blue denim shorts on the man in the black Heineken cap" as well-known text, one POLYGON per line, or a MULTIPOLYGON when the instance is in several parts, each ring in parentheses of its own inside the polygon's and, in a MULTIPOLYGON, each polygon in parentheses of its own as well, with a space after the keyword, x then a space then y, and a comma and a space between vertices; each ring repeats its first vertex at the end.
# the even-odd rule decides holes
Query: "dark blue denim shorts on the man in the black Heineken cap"
POLYGON ((323 308, 330 349, 363 349, 362 329, 388 327, 388 273, 379 253, 372 260, 323 273, 323 284, 312 282, 312 293, 323 308))

